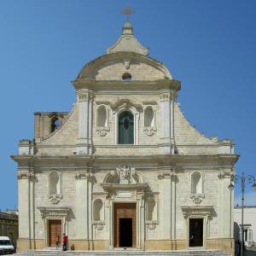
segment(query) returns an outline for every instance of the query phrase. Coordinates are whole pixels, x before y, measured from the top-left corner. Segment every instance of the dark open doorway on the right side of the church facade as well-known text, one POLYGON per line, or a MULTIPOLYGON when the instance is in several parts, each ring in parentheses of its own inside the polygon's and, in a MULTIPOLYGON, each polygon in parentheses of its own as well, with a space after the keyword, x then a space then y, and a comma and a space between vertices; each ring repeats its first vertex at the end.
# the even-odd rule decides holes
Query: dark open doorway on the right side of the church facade
POLYGON ((203 218, 189 218, 189 247, 203 246, 203 218))

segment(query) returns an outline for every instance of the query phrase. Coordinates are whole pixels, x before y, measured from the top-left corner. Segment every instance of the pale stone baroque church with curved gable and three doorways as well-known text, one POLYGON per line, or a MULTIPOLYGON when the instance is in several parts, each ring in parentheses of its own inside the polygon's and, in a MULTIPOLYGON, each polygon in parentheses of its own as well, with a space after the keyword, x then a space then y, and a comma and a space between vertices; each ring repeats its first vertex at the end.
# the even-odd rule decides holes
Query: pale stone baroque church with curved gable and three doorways
POLYGON ((71 112, 36 112, 20 140, 20 252, 219 249, 233 254, 238 155, 179 108, 179 81, 148 55, 129 21, 107 54, 72 81, 71 112))

